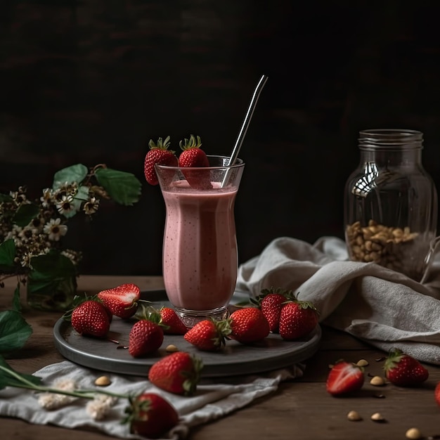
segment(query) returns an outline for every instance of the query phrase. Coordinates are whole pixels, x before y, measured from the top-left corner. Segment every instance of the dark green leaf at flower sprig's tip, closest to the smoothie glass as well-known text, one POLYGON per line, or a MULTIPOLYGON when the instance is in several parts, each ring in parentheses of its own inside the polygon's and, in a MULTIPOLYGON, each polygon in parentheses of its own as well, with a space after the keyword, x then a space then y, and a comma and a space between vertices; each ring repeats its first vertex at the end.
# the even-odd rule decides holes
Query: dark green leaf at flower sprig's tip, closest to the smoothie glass
POLYGON ((110 168, 96 170, 96 180, 120 205, 133 205, 141 195, 141 182, 131 173, 110 168))

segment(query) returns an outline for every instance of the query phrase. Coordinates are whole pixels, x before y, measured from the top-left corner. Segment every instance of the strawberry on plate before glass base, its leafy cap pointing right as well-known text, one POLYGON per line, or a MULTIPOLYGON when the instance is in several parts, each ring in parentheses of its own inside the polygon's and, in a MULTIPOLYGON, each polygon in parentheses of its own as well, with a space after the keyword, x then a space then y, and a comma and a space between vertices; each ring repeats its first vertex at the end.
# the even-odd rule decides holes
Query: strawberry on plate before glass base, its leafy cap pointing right
POLYGON ((225 337, 230 332, 231 327, 227 320, 204 319, 190 328, 183 337, 199 350, 216 351, 224 347, 225 337))

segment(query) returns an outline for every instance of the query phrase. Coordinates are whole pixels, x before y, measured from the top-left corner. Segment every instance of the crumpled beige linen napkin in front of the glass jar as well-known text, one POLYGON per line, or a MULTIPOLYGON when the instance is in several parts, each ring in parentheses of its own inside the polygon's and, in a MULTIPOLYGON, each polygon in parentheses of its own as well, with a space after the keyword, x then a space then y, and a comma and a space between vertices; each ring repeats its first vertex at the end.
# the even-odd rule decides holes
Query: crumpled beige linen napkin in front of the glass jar
POLYGON ((384 351, 396 347, 440 364, 439 277, 431 278, 422 285, 377 264, 348 261, 336 237, 314 245, 280 237, 240 266, 237 290, 242 297, 269 287, 299 292, 316 305, 321 323, 384 351))

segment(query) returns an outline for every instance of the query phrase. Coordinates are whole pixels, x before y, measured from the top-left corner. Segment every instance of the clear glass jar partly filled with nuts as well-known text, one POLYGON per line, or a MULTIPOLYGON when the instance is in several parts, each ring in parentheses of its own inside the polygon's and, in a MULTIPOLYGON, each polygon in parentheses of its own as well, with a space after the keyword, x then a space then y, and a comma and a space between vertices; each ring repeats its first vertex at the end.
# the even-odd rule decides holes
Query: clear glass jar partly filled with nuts
POLYGON ((436 236, 437 193, 422 166, 423 134, 360 131, 361 160, 344 192, 349 257, 420 281, 436 236))

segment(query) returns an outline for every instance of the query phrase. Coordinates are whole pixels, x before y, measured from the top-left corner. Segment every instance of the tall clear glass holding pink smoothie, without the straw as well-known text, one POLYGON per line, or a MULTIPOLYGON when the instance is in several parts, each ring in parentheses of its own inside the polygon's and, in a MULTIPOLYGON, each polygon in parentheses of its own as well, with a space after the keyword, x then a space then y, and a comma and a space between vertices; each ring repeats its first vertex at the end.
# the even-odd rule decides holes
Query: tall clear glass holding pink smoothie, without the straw
POLYGON ((224 318, 237 280, 234 203, 245 164, 208 159, 205 168, 155 166, 166 206, 165 290, 188 327, 224 318))

